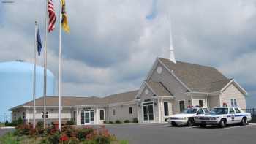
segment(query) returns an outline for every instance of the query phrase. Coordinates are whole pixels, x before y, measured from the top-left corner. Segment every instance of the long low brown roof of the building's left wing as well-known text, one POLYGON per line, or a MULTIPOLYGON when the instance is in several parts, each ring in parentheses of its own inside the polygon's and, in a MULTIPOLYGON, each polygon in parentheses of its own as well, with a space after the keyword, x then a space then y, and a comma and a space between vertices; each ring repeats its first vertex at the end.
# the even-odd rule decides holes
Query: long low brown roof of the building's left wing
MULTIPOLYGON (((76 97, 76 96, 62 96, 61 102, 63 107, 73 107, 77 105, 109 105, 118 102, 130 102, 135 99, 137 91, 128 91, 120 94, 113 94, 105 97, 76 97)), ((40 97, 36 99, 36 106, 42 107, 44 98, 40 97)), ((58 96, 46 96, 46 105, 49 107, 59 106, 59 97, 58 96)), ((32 107, 33 101, 26 102, 23 105, 18 105, 12 107, 10 110, 15 110, 20 107, 32 107)))

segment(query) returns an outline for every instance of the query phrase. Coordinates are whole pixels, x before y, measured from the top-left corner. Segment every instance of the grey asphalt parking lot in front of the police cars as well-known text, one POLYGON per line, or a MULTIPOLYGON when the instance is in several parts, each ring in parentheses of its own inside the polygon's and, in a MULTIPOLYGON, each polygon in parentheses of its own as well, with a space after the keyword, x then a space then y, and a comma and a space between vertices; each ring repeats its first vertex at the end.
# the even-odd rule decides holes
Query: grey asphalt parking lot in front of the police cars
POLYGON ((227 126, 178 126, 169 124, 113 124, 105 126, 118 140, 131 144, 193 143, 193 144, 249 144, 256 143, 256 125, 227 126))

